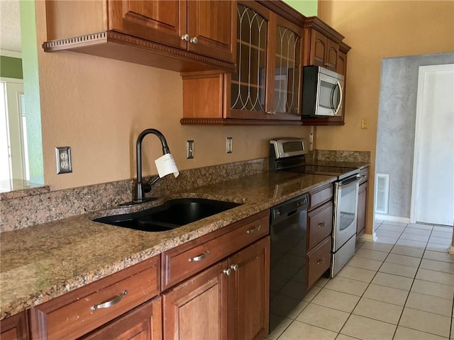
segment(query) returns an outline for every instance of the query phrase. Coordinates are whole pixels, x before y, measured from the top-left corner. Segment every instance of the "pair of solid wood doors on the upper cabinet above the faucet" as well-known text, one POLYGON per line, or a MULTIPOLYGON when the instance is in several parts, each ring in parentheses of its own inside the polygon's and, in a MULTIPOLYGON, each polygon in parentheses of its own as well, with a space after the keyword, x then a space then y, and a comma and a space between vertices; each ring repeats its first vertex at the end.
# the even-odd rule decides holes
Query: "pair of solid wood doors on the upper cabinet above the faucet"
POLYGON ((234 62, 236 1, 109 1, 109 29, 234 62))

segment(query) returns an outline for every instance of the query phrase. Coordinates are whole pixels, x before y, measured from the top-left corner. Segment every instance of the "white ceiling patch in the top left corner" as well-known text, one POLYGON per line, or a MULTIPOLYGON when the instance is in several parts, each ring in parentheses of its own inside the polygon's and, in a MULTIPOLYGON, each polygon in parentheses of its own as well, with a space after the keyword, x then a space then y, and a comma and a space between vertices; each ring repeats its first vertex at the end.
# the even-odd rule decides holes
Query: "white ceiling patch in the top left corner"
POLYGON ((19 0, 0 0, 0 50, 22 51, 19 0))

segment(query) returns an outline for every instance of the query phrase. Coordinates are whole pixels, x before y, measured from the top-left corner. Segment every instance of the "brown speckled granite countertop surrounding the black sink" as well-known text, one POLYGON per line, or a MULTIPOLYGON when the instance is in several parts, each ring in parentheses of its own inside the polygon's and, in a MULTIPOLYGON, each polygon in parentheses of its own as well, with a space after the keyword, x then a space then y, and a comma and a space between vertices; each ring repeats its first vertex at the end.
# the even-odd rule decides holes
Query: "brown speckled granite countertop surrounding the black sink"
POLYGON ((335 180, 333 176, 265 172, 132 208, 90 212, 3 232, 0 235, 0 319, 335 180), (179 197, 243 204, 168 232, 141 232, 92 222, 96 217, 142 210, 179 197))

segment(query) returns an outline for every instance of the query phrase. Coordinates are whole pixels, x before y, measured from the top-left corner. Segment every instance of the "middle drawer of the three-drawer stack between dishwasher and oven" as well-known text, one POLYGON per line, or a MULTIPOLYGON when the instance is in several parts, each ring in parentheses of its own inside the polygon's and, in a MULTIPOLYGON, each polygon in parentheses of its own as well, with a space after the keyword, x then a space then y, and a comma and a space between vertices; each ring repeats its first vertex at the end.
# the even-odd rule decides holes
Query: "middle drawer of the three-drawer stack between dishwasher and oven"
POLYGON ((333 202, 328 202, 307 214, 308 242, 307 249, 314 248, 333 230, 333 202))

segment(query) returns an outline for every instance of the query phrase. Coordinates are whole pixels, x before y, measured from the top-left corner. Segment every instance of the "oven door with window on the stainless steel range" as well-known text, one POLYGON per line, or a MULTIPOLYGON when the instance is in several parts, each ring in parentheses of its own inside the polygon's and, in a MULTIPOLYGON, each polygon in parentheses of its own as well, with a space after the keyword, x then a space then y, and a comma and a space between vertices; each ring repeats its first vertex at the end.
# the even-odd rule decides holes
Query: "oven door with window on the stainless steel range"
POLYGON ((356 233, 358 215, 359 179, 350 177, 336 183, 336 218, 334 230, 334 251, 356 233), (347 182, 347 183, 345 183, 347 182))

